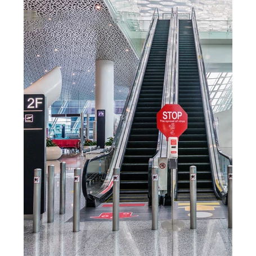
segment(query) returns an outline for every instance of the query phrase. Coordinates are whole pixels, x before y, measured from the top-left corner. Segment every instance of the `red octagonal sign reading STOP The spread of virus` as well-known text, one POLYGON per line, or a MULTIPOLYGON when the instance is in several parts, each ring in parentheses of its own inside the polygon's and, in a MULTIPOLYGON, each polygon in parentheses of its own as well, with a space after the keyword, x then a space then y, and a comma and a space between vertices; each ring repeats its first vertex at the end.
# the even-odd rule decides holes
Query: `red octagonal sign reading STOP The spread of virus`
POLYGON ((179 104, 165 104, 156 114, 156 122, 167 139, 179 137, 187 129, 187 113, 179 104))

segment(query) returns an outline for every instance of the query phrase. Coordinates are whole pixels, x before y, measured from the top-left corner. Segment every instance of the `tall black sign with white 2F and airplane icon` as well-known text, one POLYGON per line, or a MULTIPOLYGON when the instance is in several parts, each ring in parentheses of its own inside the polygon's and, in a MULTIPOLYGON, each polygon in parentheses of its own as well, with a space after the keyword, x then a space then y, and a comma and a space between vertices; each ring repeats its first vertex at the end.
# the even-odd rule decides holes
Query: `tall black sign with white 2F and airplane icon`
POLYGON ((41 214, 46 211, 46 97, 24 95, 24 214, 33 214, 34 169, 42 169, 41 214))

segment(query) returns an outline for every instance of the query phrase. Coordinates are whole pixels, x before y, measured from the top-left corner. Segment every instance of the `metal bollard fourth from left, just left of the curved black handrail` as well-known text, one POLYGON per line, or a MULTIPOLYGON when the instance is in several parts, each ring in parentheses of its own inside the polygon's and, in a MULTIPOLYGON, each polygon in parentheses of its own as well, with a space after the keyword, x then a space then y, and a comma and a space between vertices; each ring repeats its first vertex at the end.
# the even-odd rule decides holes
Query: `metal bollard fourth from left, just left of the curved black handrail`
POLYGON ((74 171, 73 232, 80 231, 81 168, 74 171))

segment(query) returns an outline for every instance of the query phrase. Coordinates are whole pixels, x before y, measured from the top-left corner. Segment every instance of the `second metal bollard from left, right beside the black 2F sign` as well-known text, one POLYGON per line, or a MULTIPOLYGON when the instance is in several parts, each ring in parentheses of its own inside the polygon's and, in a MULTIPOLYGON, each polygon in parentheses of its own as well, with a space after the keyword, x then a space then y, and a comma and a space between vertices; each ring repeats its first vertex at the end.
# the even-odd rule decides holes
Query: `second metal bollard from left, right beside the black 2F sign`
POLYGON ((48 207, 47 222, 54 221, 54 165, 48 166, 48 207))

